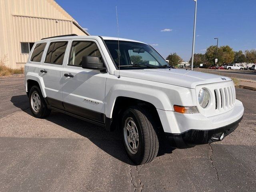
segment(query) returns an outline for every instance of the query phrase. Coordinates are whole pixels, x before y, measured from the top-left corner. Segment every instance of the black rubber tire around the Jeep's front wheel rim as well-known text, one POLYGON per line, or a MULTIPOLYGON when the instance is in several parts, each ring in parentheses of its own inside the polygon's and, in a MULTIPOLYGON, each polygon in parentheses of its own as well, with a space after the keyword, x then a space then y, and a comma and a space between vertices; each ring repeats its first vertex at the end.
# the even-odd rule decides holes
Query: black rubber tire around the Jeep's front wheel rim
POLYGON ((124 147, 128 154, 128 157, 136 164, 145 164, 151 162, 158 154, 158 135, 157 126, 154 119, 150 116, 144 108, 140 106, 131 106, 122 115, 122 137, 124 141, 124 147), (127 120, 133 120, 138 130, 138 150, 134 154, 131 152, 130 147, 127 144, 126 138, 127 131, 127 120), (125 128, 125 129, 124 129, 125 128), (126 130, 126 133, 124 132, 126 130))

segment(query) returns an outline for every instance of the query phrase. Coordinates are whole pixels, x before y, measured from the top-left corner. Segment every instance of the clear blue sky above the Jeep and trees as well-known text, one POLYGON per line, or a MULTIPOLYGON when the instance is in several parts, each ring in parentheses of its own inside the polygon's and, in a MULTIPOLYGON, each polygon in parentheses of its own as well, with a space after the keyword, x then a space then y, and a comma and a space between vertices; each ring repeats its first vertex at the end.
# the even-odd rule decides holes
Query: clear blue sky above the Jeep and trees
MULTIPOLYGON (((152 44, 166 57, 192 52, 194 0, 56 0, 90 35, 119 36, 152 44), (161 31, 168 29, 166 31, 161 31), (170 30, 169 30, 170 29, 170 30)), ((256 0, 198 0, 195 53, 210 45, 256 49, 256 0)))

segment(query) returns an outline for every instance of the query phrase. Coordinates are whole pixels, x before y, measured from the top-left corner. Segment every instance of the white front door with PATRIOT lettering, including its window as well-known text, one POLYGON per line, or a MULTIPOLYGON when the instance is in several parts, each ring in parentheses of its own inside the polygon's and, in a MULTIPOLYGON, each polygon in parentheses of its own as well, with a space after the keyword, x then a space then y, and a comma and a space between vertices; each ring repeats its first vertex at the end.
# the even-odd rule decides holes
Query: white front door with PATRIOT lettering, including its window
POLYGON ((73 40, 68 64, 62 76, 63 104, 67 112, 104 122, 106 73, 83 69, 82 56, 97 56, 102 52, 95 40, 73 40))

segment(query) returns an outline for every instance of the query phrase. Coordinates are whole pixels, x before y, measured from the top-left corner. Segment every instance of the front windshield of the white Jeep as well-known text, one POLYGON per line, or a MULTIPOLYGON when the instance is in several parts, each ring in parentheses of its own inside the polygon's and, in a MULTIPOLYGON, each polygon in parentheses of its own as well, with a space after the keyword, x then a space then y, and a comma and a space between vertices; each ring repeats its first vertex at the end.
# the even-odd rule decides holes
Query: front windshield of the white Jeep
POLYGON ((105 40, 116 67, 123 69, 170 68, 170 65, 152 47, 144 43, 105 40), (119 58, 118 58, 119 54, 119 58))

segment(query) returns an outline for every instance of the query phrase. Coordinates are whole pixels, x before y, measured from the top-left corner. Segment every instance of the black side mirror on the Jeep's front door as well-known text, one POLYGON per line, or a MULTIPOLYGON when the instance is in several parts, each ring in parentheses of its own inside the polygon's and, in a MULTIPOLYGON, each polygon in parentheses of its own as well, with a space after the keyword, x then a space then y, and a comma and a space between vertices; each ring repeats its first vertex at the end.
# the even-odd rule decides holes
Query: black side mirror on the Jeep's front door
POLYGON ((82 68, 94 69, 94 70, 100 70, 100 72, 106 72, 106 67, 102 62, 100 62, 100 58, 95 56, 83 56, 82 68))

